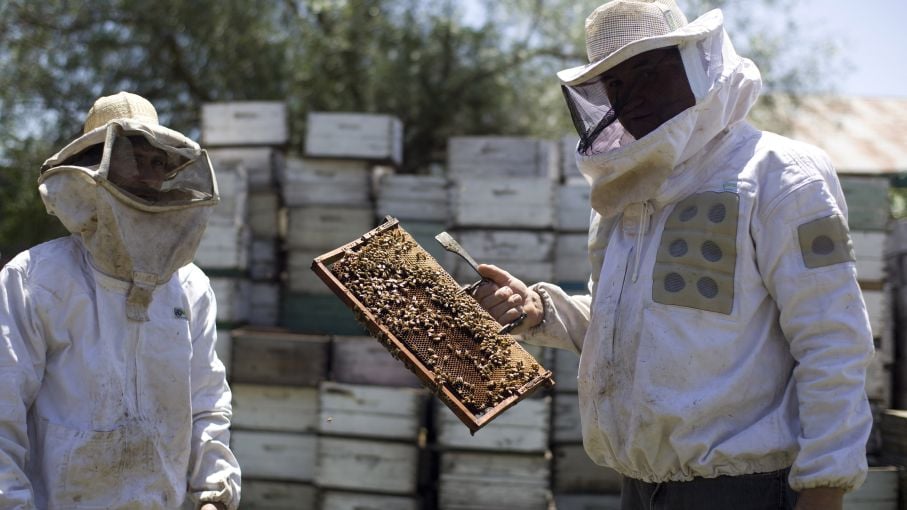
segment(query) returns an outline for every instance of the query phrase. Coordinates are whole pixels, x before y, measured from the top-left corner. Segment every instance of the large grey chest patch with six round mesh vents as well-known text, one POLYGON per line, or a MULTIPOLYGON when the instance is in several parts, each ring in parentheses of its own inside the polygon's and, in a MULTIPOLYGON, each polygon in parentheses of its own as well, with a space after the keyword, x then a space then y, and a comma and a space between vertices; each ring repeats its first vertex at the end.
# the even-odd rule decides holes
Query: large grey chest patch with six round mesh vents
POLYGON ((730 314, 734 308, 739 197, 706 192, 677 204, 665 223, 652 275, 652 299, 730 314))

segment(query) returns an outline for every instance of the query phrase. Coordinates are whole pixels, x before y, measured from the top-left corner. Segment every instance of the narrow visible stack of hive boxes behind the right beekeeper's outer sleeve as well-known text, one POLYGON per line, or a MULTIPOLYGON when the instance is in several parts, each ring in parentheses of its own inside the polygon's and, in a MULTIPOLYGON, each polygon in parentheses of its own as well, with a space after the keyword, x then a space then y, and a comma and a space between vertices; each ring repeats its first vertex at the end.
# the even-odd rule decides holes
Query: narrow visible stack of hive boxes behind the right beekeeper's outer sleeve
POLYGON ((895 359, 890 303, 884 291, 883 252, 890 220, 889 179, 881 175, 842 175, 840 180, 857 258, 857 278, 876 344, 876 356, 867 373, 866 394, 877 408, 885 409, 891 405, 891 369, 895 359))

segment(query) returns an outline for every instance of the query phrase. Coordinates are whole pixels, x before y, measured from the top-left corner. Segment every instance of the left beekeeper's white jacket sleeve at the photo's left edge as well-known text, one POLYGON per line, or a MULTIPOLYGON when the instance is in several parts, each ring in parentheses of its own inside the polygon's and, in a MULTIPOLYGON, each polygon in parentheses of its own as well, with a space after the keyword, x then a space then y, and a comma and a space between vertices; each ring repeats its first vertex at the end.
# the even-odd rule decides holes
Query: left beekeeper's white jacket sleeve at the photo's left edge
POLYGON ((0 508, 35 508, 25 460, 26 415, 44 373, 44 341, 38 332, 24 275, 7 266, 0 272, 0 508))

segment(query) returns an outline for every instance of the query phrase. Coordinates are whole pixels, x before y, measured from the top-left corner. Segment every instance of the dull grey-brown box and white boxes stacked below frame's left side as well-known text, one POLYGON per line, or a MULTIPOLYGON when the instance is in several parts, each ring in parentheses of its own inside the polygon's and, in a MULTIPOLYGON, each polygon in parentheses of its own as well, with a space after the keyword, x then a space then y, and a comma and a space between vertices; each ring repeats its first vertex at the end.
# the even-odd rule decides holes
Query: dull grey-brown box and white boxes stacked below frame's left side
POLYGON ((319 388, 323 510, 417 510, 427 473, 428 393, 370 337, 335 337, 319 388))

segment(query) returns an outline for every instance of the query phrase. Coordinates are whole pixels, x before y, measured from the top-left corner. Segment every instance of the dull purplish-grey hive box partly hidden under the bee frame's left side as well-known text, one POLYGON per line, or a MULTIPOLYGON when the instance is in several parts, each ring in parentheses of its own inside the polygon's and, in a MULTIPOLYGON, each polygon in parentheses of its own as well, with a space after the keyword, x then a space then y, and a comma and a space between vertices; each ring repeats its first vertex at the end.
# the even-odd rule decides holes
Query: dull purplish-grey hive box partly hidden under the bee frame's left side
POLYGON ((347 384, 417 388, 419 378, 387 355, 370 336, 335 336, 331 342, 331 379, 347 384))

